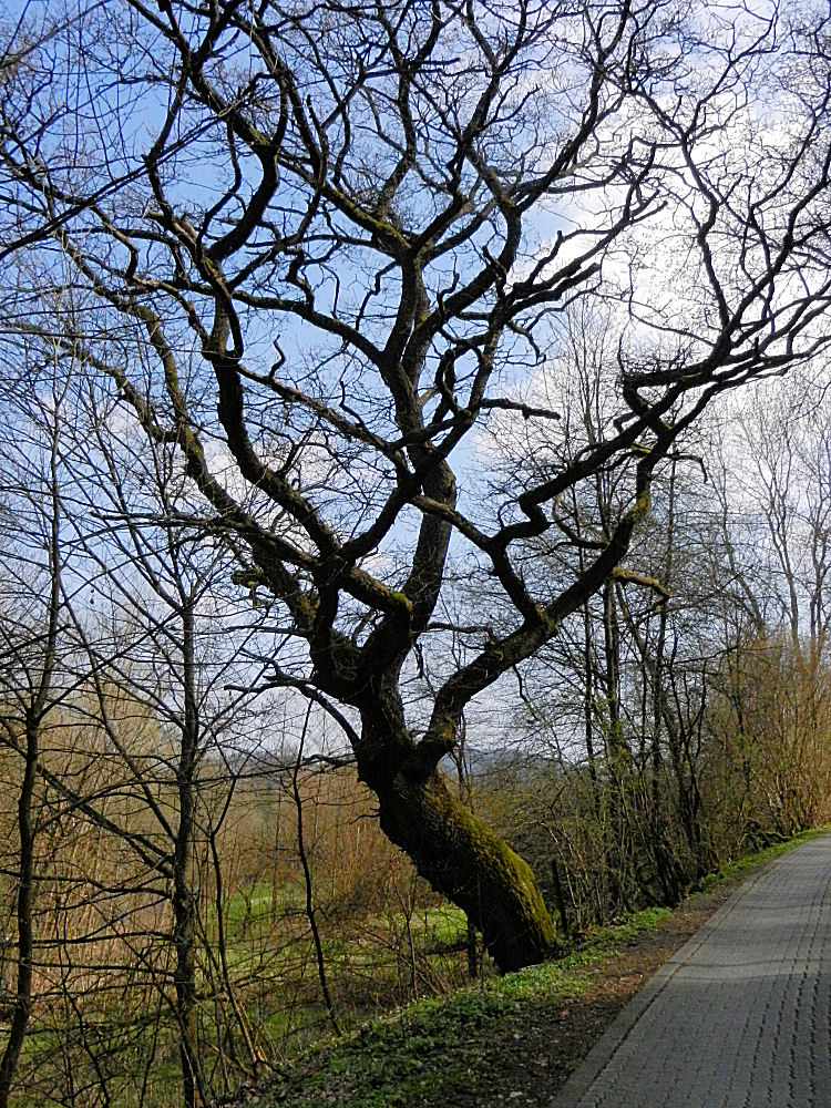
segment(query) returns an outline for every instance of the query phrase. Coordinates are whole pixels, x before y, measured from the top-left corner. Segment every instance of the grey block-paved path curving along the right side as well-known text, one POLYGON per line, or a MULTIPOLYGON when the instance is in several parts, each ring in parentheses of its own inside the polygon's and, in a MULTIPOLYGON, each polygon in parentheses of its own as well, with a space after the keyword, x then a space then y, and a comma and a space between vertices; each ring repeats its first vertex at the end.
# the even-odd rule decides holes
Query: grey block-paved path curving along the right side
POLYGON ((831 834, 750 878, 551 1108, 831 1108, 831 834))

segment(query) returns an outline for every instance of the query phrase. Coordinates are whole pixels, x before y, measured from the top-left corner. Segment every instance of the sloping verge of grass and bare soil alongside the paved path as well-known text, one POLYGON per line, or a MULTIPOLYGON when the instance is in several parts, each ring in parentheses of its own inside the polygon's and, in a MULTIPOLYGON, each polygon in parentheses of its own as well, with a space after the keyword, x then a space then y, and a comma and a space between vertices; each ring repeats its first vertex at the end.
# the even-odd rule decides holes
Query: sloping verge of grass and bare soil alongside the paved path
POLYGON ((725 865, 675 912, 646 909, 566 957, 376 1019, 296 1059, 248 1108, 544 1104, 616 1012, 747 875, 810 831, 725 865))

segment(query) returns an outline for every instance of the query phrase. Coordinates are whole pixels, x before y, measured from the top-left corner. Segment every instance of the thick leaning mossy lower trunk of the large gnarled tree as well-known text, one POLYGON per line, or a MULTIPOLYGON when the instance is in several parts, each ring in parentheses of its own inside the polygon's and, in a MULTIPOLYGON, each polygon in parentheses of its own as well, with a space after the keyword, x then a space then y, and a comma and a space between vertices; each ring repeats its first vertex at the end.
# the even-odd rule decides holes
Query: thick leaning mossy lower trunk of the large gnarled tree
POLYGON ((438 771, 427 780, 398 772, 368 783, 379 800, 381 830, 437 892, 468 913, 502 973, 558 953, 531 866, 452 794, 438 771))

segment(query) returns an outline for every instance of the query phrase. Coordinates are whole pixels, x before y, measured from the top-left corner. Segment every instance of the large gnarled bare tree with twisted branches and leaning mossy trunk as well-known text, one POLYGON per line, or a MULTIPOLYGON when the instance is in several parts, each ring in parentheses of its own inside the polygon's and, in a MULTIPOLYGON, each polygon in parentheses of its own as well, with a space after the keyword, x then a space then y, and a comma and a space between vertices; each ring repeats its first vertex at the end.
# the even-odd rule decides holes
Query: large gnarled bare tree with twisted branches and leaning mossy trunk
POLYGON ((807 20, 123 0, 71 34, 14 24, 6 48, 10 331, 62 343, 125 425, 176 444, 193 513, 281 613, 294 645, 264 659, 273 679, 357 717, 381 827, 503 970, 545 956, 553 925, 439 765, 465 706, 604 588, 706 406, 828 341, 830 91, 807 20), (66 283, 84 310, 55 328, 39 297, 66 283), (616 419, 572 452, 517 382, 582 296, 633 326, 616 419), (483 501, 494 411, 562 450, 483 501), (526 574, 601 470, 627 490, 613 525, 570 536, 563 579, 526 574), (442 670, 451 566, 500 602, 442 670))

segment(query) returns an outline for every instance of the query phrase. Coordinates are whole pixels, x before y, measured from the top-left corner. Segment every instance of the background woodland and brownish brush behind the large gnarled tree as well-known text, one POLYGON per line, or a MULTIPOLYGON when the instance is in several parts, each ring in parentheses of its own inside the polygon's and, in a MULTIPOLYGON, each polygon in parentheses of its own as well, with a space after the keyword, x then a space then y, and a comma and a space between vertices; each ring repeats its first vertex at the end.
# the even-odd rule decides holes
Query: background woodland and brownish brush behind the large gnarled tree
MULTIPOLYGON (((585 367, 568 372, 591 422, 603 375, 585 367)), ((22 1105, 174 1101, 184 955, 209 1102, 320 1034, 493 968, 464 913, 380 832, 337 721, 250 681, 270 613, 227 598, 204 535, 165 531, 163 458, 130 474, 143 495, 157 482, 158 517, 141 526, 107 510, 109 484, 91 489, 93 429, 74 404, 65 418, 72 396, 6 397, 7 1024, 16 892, 21 873, 32 881, 12 1091, 22 1105)), ((831 402, 808 379, 753 400, 701 428, 657 485, 630 574, 473 706, 443 768, 532 864, 566 944, 831 814, 831 402)), ((499 438, 511 464, 505 427, 499 438)), ((603 512, 615 494, 598 480, 603 512)), ((556 546, 535 571, 561 572, 556 546)), ((462 579, 462 626, 476 612, 464 593, 462 579)))

